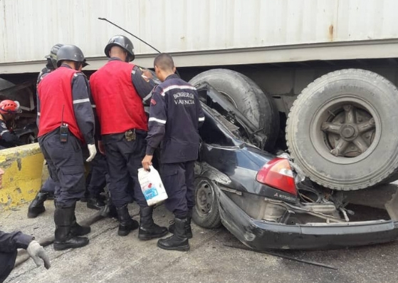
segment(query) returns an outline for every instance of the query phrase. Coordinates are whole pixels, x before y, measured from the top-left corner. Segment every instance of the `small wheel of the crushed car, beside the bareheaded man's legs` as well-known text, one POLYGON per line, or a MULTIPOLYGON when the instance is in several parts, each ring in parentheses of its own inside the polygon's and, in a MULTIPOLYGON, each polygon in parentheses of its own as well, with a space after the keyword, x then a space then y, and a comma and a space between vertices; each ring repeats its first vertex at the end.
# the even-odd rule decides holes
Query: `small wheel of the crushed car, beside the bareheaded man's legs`
POLYGON ((192 210, 192 220, 207 229, 221 226, 215 186, 216 184, 206 177, 195 179, 195 206, 192 210))

